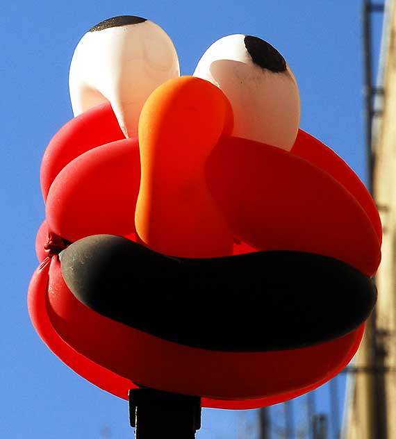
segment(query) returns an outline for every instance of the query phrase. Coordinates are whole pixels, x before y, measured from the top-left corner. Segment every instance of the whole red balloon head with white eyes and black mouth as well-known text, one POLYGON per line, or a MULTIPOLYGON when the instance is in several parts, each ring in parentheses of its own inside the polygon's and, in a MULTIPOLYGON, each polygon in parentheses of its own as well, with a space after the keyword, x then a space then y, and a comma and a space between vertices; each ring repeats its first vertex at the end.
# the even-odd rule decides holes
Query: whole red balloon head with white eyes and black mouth
POLYGON ((28 309, 75 372, 257 408, 335 376, 374 306, 381 223, 363 183, 299 126, 295 76, 260 38, 179 76, 140 17, 85 33, 74 119, 42 159, 28 309))

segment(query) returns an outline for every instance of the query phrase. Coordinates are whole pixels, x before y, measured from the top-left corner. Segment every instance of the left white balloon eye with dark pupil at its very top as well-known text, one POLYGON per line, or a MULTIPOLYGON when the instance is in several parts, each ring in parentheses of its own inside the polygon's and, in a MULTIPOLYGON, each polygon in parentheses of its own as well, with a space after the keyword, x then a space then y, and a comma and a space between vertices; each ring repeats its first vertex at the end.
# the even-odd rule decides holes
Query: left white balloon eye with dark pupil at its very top
POLYGON ((176 49, 160 26, 131 15, 106 19, 85 33, 74 51, 69 72, 73 113, 110 101, 126 137, 135 136, 149 94, 176 76, 176 49))

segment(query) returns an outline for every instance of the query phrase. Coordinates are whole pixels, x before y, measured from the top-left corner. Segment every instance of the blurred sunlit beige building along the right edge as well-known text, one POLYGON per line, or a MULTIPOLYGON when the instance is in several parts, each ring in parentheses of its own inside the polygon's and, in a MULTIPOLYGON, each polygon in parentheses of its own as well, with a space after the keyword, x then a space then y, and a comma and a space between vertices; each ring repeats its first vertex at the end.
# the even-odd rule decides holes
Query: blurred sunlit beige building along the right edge
POLYGON ((349 374, 345 439, 396 438, 396 0, 384 6, 377 86, 371 80, 370 13, 365 1, 366 113, 372 192, 383 224, 377 306, 349 374))

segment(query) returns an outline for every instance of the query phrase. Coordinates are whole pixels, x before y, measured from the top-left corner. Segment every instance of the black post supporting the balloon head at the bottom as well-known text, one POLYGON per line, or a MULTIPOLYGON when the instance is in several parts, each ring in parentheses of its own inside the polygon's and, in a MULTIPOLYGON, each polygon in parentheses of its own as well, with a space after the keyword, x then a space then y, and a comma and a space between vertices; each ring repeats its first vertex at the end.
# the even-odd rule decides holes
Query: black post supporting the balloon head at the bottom
POLYGON ((129 390, 135 439, 194 439, 201 427, 201 398, 150 388, 129 390))

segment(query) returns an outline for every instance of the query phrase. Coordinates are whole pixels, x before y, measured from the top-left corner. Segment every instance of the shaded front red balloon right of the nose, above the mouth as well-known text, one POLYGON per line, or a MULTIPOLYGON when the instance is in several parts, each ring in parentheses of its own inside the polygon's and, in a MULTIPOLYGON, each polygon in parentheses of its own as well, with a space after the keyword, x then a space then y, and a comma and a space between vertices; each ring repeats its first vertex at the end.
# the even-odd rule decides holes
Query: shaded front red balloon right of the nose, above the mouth
POLYGON ((322 254, 368 276, 376 272, 381 245, 370 218, 351 192, 307 160, 224 137, 206 175, 233 235, 252 247, 322 254))

